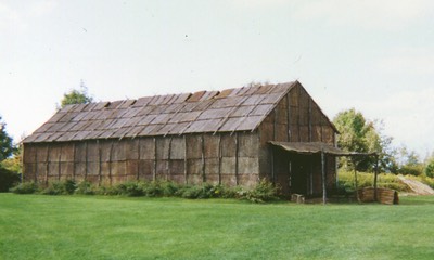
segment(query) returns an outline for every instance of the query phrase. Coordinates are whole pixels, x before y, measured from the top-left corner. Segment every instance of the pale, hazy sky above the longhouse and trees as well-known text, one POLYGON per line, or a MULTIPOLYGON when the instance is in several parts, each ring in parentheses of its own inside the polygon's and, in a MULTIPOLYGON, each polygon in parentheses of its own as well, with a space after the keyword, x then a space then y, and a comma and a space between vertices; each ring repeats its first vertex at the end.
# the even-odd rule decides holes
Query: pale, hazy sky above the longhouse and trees
POLYGON ((434 151, 434 1, 0 0, 0 116, 18 142, 80 81, 97 101, 298 80, 434 151))

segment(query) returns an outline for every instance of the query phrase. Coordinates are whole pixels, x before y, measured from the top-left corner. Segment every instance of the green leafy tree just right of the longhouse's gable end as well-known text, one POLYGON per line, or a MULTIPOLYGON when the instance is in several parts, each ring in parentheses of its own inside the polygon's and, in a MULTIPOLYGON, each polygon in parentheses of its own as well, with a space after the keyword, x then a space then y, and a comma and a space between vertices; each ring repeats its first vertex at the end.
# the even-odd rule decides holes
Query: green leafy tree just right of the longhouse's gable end
MULTIPOLYGON (((379 155, 379 167, 382 171, 392 171, 395 167, 394 150, 391 147, 392 138, 382 134, 382 121, 370 121, 355 108, 340 112, 333 119, 341 134, 337 135, 337 146, 348 152, 372 153, 379 155)), ((340 166, 348 170, 373 170, 374 157, 341 158, 340 166)))

